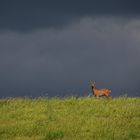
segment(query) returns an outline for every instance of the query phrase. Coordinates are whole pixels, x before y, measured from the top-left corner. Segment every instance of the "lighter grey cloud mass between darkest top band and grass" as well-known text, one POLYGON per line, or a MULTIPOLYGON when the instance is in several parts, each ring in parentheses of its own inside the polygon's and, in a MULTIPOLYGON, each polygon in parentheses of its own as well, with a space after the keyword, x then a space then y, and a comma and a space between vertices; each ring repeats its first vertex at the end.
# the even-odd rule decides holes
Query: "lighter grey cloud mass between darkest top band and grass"
POLYGON ((83 18, 67 28, 0 33, 1 96, 139 95, 140 20, 83 18))

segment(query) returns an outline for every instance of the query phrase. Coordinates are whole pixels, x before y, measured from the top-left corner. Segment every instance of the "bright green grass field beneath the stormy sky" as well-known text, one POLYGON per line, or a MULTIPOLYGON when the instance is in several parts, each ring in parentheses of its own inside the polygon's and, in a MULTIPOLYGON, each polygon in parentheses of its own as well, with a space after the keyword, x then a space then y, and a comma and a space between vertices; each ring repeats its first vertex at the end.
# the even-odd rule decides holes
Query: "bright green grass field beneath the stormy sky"
POLYGON ((0 100, 0 140, 140 140, 140 98, 0 100))

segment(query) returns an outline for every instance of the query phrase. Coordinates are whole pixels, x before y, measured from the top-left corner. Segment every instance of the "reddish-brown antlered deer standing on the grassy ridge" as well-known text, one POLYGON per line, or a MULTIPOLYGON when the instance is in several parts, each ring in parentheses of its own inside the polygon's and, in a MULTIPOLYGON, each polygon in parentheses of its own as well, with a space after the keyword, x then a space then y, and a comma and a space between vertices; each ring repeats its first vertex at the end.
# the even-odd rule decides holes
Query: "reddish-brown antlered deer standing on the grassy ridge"
POLYGON ((109 98, 109 94, 111 93, 110 89, 104 88, 104 89, 96 89, 96 85, 95 85, 95 81, 90 80, 90 86, 91 86, 91 90, 92 90, 92 94, 93 96, 95 96, 96 98, 105 96, 107 98, 109 98))

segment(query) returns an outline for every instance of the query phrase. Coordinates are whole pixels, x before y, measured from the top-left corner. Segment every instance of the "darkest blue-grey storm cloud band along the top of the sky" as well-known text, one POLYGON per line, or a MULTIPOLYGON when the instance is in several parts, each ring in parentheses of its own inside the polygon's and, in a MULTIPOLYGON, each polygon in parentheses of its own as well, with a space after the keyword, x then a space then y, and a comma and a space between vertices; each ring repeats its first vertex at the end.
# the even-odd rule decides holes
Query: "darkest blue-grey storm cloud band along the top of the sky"
POLYGON ((57 28, 85 16, 137 17, 139 5, 138 0, 2 0, 0 30, 57 28))

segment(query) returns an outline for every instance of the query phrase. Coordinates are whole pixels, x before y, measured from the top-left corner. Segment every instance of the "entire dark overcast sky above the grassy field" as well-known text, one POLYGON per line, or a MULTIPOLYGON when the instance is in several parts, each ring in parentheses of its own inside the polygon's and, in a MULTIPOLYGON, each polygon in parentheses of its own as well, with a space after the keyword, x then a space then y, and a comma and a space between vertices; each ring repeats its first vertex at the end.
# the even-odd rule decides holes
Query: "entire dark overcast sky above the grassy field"
POLYGON ((1 0, 0 97, 140 96, 138 0, 1 0))

